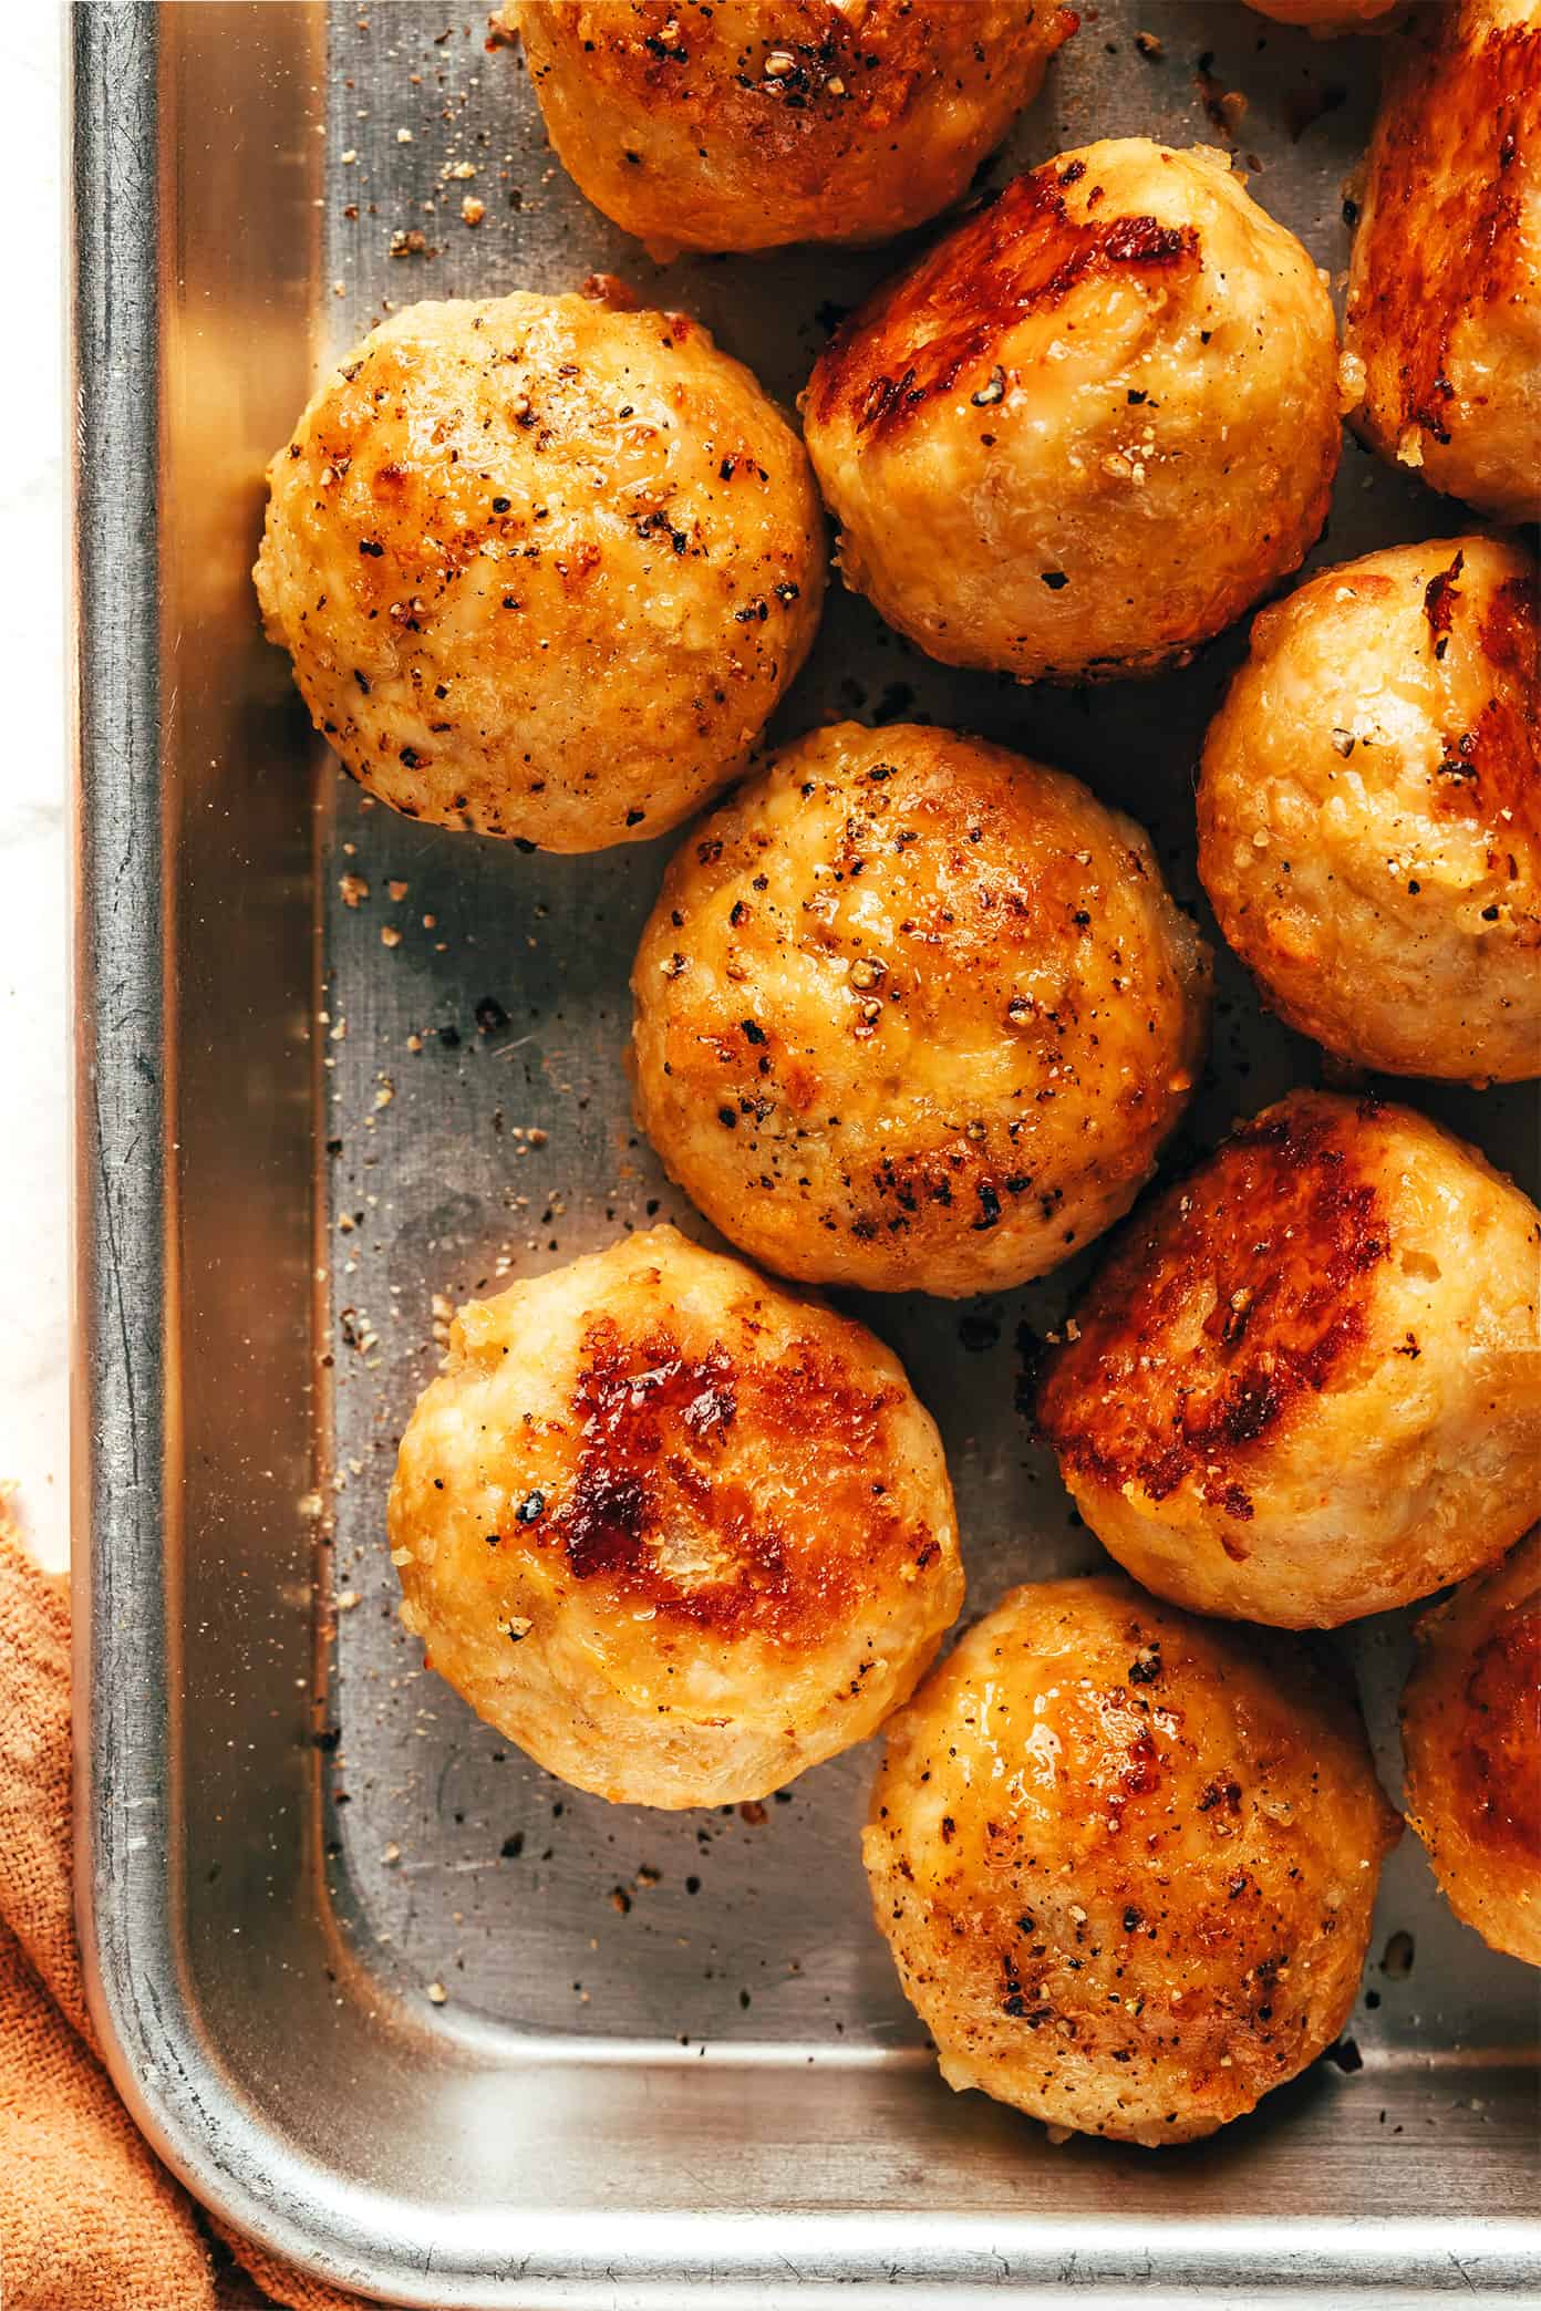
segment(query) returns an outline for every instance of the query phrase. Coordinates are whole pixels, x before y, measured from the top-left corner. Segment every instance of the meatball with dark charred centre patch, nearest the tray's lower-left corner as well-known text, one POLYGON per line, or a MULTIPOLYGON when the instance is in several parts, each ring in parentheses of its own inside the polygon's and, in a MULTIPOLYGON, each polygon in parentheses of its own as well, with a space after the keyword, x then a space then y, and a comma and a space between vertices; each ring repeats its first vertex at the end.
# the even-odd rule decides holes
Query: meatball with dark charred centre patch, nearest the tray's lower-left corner
POLYGON ((896 1357, 672 1227, 460 1310, 388 1521, 430 1664, 628 1805, 762 1798, 864 1740, 963 1602, 896 1357))

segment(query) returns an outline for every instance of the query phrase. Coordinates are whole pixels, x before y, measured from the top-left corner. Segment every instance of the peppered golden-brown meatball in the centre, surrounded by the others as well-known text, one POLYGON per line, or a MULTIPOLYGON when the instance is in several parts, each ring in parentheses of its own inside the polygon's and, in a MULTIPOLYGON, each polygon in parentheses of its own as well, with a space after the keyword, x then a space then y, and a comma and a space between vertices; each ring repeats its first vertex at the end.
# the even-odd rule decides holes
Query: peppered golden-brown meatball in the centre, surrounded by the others
POLYGON ((714 1227, 786 1276, 963 1294, 1130 1209, 1208 954, 1077 779, 839 723, 686 839, 631 987, 638 1121, 714 1227))

